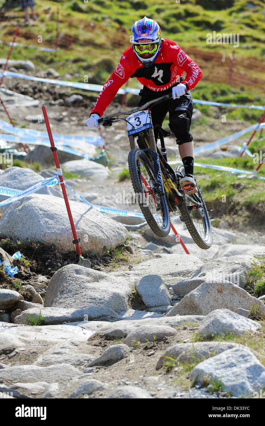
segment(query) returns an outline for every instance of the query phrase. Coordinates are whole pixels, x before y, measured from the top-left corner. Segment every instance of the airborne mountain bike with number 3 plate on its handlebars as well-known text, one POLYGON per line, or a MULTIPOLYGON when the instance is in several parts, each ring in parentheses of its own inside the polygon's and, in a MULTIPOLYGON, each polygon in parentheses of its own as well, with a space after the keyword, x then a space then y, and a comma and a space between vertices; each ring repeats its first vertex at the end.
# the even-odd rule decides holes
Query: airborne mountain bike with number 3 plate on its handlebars
POLYGON ((164 95, 142 107, 102 117, 98 123, 112 126, 115 121, 126 121, 131 149, 128 165, 132 187, 153 232, 159 237, 167 236, 170 232, 170 212, 176 212, 187 226, 194 242, 200 248, 207 249, 212 245, 212 230, 202 193, 198 186, 198 193, 192 195, 181 190, 179 181, 184 176, 184 166, 178 165, 173 169, 168 164, 164 144, 164 137, 172 133, 157 127, 161 150, 156 144, 148 107, 166 101, 171 96, 164 95), (119 115, 127 115, 127 118, 118 117, 119 115))

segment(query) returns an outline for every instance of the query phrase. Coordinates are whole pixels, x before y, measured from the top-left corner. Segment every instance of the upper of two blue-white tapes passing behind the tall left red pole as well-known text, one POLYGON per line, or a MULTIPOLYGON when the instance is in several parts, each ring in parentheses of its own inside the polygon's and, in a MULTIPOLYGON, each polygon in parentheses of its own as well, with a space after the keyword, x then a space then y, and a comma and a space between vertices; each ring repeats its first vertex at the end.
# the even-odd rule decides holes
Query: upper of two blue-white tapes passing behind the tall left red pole
MULTIPOLYGON (((32 136, 34 138, 40 137, 44 139, 49 139, 47 132, 40 132, 39 130, 32 129, 23 129, 22 127, 13 127, 11 124, 6 123, 6 121, 0 120, 0 130, 5 130, 6 132, 12 133, 17 136, 32 136)), ((104 145, 104 140, 101 136, 74 136, 74 135, 62 135, 62 134, 53 134, 53 139, 55 141, 62 141, 64 145, 74 145, 80 142, 86 142, 93 145, 104 145)))

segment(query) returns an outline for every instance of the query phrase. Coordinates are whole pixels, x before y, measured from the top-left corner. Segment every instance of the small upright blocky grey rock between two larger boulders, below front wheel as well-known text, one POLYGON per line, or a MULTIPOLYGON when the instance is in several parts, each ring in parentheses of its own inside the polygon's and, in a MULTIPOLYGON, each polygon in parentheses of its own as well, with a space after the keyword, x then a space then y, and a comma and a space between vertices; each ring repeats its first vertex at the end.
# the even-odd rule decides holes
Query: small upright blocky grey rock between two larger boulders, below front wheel
POLYGON ((138 282, 135 282, 135 288, 147 308, 171 303, 167 286, 159 275, 143 276, 138 282))

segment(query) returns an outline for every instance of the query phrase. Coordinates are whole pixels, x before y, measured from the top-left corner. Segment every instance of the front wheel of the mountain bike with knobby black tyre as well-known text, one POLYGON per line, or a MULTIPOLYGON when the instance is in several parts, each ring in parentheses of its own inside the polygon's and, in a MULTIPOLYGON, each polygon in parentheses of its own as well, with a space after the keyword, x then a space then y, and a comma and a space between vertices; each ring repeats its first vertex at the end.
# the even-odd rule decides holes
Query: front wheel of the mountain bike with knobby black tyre
POLYGON ((132 187, 148 225, 157 236, 167 236, 170 232, 167 201, 154 190, 156 181, 150 160, 142 150, 134 148, 129 153, 128 165, 132 187))

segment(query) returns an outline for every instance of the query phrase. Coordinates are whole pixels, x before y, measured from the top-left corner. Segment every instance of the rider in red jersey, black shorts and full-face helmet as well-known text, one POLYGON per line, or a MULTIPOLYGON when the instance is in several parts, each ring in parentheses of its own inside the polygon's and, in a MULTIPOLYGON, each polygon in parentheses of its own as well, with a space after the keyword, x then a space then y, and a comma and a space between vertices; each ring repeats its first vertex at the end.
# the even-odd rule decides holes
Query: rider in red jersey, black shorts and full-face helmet
POLYGON ((130 77, 136 77, 144 86, 139 92, 139 107, 156 99, 160 93, 167 95, 172 92, 172 99, 150 107, 154 133, 157 140, 158 127, 169 112, 169 127, 179 145, 185 170, 180 186, 189 194, 196 193, 193 137, 190 134, 193 113, 190 89, 200 81, 202 71, 174 41, 161 38, 160 27, 152 19, 144 17, 133 24, 130 42, 131 46, 121 55, 120 62, 98 95, 86 124, 98 128, 98 118, 130 77), (185 78, 184 71, 187 73, 185 78))

